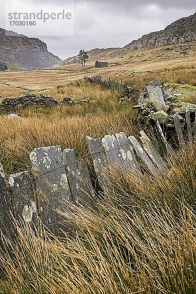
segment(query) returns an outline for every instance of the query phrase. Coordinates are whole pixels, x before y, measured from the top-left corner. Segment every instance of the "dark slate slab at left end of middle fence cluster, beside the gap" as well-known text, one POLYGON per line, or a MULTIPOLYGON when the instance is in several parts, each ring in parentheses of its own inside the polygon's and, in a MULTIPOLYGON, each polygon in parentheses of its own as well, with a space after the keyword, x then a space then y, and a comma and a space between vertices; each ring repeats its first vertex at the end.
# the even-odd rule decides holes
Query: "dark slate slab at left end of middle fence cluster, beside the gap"
POLYGON ((107 188, 110 188, 109 182, 105 177, 105 168, 108 167, 105 150, 100 139, 93 139, 87 136, 86 141, 93 159, 99 186, 105 191, 107 188))

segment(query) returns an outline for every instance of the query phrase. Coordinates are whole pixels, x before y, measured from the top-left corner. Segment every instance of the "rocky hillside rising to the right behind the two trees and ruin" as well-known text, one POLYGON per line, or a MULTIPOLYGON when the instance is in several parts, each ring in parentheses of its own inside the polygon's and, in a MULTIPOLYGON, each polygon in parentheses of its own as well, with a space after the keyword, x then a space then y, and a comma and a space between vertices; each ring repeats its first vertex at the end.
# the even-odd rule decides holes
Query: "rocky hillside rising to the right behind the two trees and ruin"
MULTIPOLYGON (((105 60, 107 56, 132 51, 143 47, 161 47, 170 44, 182 44, 196 41, 196 13, 179 19, 168 25, 164 30, 149 33, 138 40, 134 40, 123 48, 92 49, 88 51, 91 59, 105 60)), ((68 65, 77 62, 77 56, 61 61, 59 65, 68 65)))

